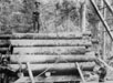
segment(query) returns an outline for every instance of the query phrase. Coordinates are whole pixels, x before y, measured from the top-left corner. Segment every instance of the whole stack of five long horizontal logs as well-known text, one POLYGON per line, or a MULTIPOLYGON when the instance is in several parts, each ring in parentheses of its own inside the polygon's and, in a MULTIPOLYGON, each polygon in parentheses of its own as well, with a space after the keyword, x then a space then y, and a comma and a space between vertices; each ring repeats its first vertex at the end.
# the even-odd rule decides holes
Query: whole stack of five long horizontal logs
MULTIPOLYGON (((13 33, 0 38, 9 40, 13 48, 9 68, 14 71, 21 68, 24 74, 28 73, 28 62, 33 74, 38 75, 48 70, 58 76, 75 76, 75 62, 79 62, 83 71, 92 71, 95 65, 90 33, 13 33)), ((7 51, 9 48, 0 49, 7 51)), ((73 76, 70 77, 72 79, 73 76)))

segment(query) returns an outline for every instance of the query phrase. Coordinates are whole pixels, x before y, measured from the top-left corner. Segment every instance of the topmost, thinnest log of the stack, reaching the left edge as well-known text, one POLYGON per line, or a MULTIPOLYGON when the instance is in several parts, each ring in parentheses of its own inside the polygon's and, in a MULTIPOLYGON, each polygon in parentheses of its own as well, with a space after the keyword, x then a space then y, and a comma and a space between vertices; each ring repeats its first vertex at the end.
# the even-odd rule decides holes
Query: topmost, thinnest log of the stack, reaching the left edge
POLYGON ((82 38, 82 35, 90 35, 90 32, 59 32, 59 33, 12 33, 0 34, 0 39, 47 39, 47 38, 82 38))

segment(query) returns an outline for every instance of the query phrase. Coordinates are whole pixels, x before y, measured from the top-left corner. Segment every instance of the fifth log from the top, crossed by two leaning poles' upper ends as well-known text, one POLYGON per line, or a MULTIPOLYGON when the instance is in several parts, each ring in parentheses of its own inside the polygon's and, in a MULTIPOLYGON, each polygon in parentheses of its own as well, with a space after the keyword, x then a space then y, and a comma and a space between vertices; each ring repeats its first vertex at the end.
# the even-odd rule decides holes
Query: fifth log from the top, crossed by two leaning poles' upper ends
MULTIPOLYGON (((82 68, 83 71, 90 71, 93 70, 95 65, 95 62, 85 62, 85 63, 80 63, 80 66, 82 68)), ((20 65, 19 64, 9 64, 10 68, 13 70, 19 70, 20 65)), ((22 64, 22 70, 27 71, 27 64, 22 64)), ((42 72, 44 70, 49 69, 49 71, 73 71, 76 70, 75 63, 45 63, 45 64, 31 64, 31 70, 37 71, 37 72, 42 72)))

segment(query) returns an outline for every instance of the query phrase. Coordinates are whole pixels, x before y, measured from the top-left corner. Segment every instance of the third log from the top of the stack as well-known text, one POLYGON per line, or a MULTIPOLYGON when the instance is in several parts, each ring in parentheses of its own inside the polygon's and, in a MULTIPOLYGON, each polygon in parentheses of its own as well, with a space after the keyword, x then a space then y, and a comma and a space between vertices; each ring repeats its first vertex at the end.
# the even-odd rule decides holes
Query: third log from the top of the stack
POLYGON ((90 49, 84 46, 37 46, 37 48, 14 48, 13 54, 84 54, 90 49))

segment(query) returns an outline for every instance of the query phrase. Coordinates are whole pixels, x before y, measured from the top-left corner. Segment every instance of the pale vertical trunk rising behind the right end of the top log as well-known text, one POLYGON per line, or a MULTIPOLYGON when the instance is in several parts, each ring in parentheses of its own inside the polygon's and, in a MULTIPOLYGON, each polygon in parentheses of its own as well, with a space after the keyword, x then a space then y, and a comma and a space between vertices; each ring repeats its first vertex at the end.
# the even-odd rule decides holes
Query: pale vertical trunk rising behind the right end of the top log
POLYGON ((82 29, 82 32, 85 32, 86 31, 86 27, 85 27, 85 23, 86 23, 86 20, 85 20, 85 11, 86 11, 86 0, 83 0, 82 4, 81 4, 81 29, 82 29))

